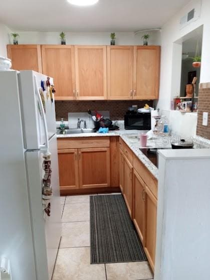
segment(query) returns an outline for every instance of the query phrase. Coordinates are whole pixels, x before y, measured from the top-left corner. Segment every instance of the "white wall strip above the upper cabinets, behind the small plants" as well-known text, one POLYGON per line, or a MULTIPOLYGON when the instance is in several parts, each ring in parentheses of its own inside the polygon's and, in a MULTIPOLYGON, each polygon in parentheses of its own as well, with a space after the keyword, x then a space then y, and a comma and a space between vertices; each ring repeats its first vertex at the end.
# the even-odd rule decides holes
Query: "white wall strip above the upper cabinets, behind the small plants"
MULTIPOLYGON (((60 44, 58 32, 18 32, 19 44, 60 44)), ((144 33, 116 32, 116 45, 142 45, 141 36, 144 33)), ((149 45, 160 45, 160 32, 152 31, 149 45)), ((12 43, 12 40, 11 40, 12 43)), ((76 33, 66 32, 66 44, 69 45, 109 45, 110 33, 76 33)))

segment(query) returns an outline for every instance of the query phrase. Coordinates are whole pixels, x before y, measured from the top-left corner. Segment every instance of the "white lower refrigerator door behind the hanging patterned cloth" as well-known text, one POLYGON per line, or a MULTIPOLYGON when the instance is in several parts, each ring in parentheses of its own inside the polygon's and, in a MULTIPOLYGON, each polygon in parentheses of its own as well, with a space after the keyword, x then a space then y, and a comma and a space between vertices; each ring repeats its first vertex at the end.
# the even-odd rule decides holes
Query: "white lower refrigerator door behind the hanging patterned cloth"
POLYGON ((42 206, 42 179, 44 176, 43 153, 26 152, 32 226, 39 280, 51 279, 61 238, 61 210, 58 177, 57 140, 54 135, 49 141, 51 153, 53 196, 51 215, 44 219, 42 206), (48 271, 47 271, 48 269, 48 271), (48 275, 48 276, 47 276, 48 275), (47 277, 47 278, 46 278, 47 277))

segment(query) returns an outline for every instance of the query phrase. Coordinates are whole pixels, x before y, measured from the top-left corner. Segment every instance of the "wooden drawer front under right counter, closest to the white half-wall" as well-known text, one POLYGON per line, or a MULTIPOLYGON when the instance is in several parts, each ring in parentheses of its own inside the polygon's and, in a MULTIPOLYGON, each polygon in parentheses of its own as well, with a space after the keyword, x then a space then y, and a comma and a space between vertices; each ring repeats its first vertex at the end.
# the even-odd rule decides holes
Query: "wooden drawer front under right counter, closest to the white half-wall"
POLYGON ((148 186, 150 191, 157 198, 157 179, 148 171, 148 169, 141 163, 141 161, 134 155, 133 168, 142 178, 144 183, 148 186))

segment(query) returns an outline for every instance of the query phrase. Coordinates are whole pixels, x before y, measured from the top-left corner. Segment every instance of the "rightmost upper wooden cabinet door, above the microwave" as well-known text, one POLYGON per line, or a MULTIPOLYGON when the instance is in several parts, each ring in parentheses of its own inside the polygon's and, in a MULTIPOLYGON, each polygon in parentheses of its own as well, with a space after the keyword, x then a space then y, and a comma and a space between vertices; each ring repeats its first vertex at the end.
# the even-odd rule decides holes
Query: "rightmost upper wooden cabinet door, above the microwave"
POLYGON ((157 99, 159 93, 160 47, 134 47, 133 99, 157 99))

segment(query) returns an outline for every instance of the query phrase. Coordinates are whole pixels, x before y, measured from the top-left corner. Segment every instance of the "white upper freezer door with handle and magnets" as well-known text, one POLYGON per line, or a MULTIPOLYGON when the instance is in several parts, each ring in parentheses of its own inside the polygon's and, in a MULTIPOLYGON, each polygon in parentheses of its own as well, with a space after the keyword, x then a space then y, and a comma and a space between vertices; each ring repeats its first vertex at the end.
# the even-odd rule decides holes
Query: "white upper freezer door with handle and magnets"
MULTIPOLYGON (((40 96, 41 81, 47 76, 35 71, 21 71, 19 88, 22 105, 22 122, 24 128, 24 147, 27 150, 43 149, 56 133, 55 100, 51 100, 47 90, 44 91, 45 111, 40 96)), ((53 84, 53 79, 50 78, 53 84)))

